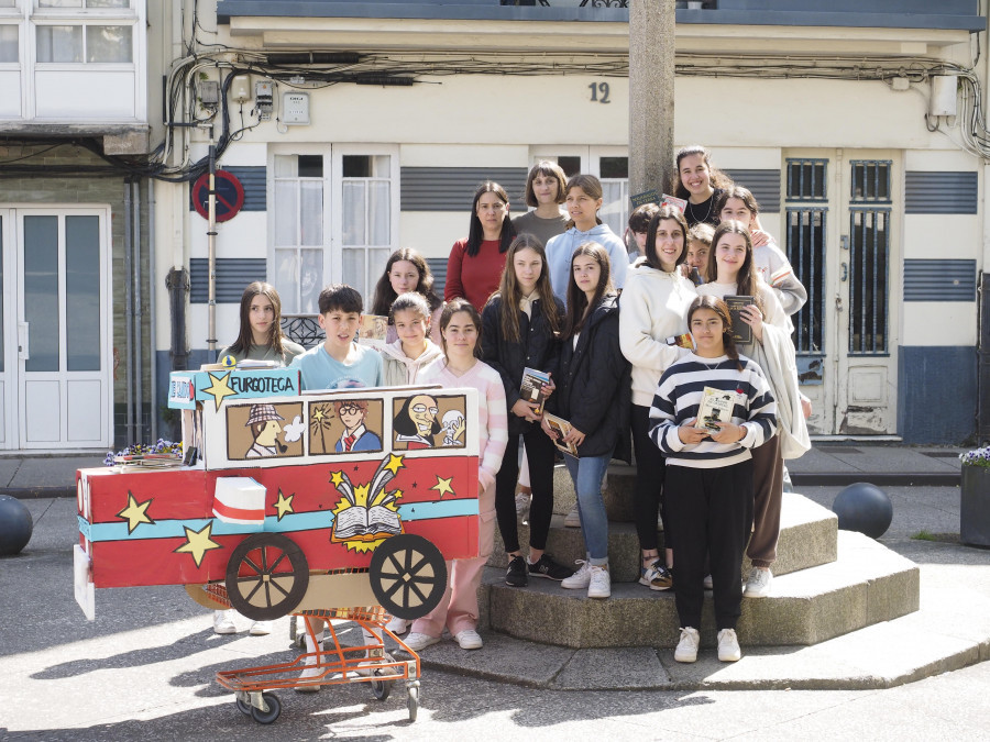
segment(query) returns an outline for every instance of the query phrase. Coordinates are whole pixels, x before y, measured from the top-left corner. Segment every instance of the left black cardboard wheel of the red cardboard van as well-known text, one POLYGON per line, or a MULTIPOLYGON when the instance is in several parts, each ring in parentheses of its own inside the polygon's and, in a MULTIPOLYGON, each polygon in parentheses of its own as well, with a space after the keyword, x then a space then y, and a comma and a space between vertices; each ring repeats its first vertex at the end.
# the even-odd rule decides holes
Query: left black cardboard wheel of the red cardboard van
POLYGON ((290 613, 309 586, 306 555, 280 533, 255 533, 233 550, 227 564, 230 605, 253 621, 290 613))

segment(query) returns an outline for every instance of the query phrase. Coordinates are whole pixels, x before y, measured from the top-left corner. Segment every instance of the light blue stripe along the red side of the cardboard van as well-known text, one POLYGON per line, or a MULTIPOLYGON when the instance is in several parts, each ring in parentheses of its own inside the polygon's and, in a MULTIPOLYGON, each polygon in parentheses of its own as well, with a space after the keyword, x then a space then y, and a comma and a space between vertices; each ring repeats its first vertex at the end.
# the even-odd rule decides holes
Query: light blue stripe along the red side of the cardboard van
MULTIPOLYGON (((415 502, 399 506, 399 518, 404 522, 417 520, 440 520, 477 514, 477 500, 441 500, 439 502, 415 502)), ((285 516, 280 521, 275 516, 265 518, 264 524, 224 523, 219 518, 190 518, 187 520, 160 520, 140 523, 133 533, 128 533, 125 521, 119 523, 90 523, 79 517, 79 531, 94 543, 101 541, 133 541, 144 539, 183 539, 186 528, 201 531, 212 523, 211 535, 249 535, 251 533, 298 533, 318 531, 333 525, 333 513, 299 512, 285 516)))

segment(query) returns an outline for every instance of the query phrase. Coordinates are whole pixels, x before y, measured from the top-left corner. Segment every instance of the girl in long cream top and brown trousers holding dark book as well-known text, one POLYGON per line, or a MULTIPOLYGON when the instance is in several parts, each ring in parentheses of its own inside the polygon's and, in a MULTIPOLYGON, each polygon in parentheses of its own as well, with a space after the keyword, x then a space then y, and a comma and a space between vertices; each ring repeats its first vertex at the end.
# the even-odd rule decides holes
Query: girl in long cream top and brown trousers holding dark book
POLYGON ((752 539, 747 547, 752 571, 746 582, 746 595, 760 598, 770 594, 773 577, 770 565, 777 558, 783 459, 802 455, 811 447, 811 441, 798 389, 798 364, 791 342, 793 325, 777 294, 757 275, 747 224, 735 220, 722 222, 712 245, 707 272, 711 283, 698 286, 697 294, 719 299, 752 298, 752 303, 738 314, 739 321, 749 325, 752 339, 739 344, 739 350, 763 370, 778 402, 780 435, 752 451, 755 505, 752 539))

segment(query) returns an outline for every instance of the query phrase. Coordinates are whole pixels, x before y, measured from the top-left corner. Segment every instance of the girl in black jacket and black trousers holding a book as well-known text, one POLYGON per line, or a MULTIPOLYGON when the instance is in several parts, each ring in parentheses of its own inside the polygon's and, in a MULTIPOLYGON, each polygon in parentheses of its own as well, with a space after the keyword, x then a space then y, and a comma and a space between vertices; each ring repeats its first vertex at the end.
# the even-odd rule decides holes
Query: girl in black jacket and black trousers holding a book
MULTIPOLYGON (((557 370, 563 304, 554 298, 547 270, 547 253, 531 234, 520 234, 509 245, 498 291, 482 313, 483 358, 502 376, 508 407, 508 445, 495 476, 495 514, 509 557, 506 585, 525 587, 529 576, 563 579, 572 571, 554 562, 547 547, 553 514, 553 443, 540 432, 538 406, 519 397, 522 372, 528 366, 552 375, 557 370), (532 506, 529 511, 529 558, 519 551, 516 524, 516 480, 519 477, 519 436, 529 459, 532 506)), ((544 387, 551 392, 553 381, 544 387)))

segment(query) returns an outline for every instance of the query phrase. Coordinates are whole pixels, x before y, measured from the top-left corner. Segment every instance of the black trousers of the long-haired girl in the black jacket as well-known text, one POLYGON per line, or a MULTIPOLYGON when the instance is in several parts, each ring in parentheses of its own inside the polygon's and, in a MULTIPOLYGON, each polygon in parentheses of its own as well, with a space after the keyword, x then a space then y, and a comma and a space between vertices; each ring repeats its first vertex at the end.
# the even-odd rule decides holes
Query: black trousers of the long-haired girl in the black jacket
MULTIPOLYGON (((509 413, 512 414, 512 413, 509 413)), ((529 486, 532 505, 529 508, 529 545, 547 547, 550 518, 553 516, 553 441, 539 425, 522 434, 526 458, 529 462, 529 486)), ((519 434, 509 433, 502 468, 495 475, 495 517, 506 552, 519 551, 519 527, 516 522, 516 483, 519 479, 519 434)))

